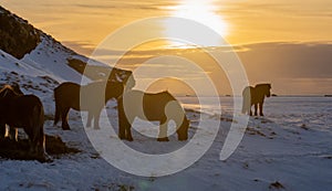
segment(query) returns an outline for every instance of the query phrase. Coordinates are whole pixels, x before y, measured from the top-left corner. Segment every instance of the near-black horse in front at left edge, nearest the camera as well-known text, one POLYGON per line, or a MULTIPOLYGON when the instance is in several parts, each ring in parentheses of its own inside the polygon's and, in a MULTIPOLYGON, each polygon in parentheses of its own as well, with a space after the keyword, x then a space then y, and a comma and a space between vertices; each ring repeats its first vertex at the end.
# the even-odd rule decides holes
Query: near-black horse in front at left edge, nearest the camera
POLYGON ((4 86, 0 95, 3 96, 0 98, 0 127, 23 128, 31 140, 31 152, 44 155, 44 109, 39 97, 20 95, 10 86, 4 86))

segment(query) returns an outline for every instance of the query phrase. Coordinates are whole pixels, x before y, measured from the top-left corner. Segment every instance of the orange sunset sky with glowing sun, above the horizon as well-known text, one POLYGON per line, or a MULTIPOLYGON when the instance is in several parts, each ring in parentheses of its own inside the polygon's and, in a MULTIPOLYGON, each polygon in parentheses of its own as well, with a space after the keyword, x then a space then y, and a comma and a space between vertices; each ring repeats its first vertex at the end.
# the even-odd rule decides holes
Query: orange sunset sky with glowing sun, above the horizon
MULTIPOLYGON (((272 83, 272 91, 277 94, 332 94, 331 0, 1 0, 0 4, 87 56, 107 35, 136 20, 152 17, 190 19, 212 29, 230 45, 238 47, 237 54, 250 84, 272 83)), ((193 30, 180 30, 180 26, 167 21, 146 28, 162 38, 179 31, 193 33, 193 30)), ((135 30, 133 33, 138 35, 143 32, 135 30)), ((222 46, 225 43, 209 38, 203 36, 199 45, 222 46)), ((179 47, 173 55, 183 56, 188 55, 184 49, 190 49, 184 42, 174 41, 145 43, 139 47, 139 55, 132 51, 136 60, 129 55, 124 59, 125 64, 118 66, 135 70, 142 57, 147 61, 163 51, 164 55, 172 52, 168 47, 179 47)), ((195 57, 203 55, 201 51, 190 50, 196 53, 195 57)), ((108 51, 107 55, 112 56, 112 51, 108 51)), ((195 57, 189 59, 197 61, 195 57)), ((222 86, 218 88, 219 94, 231 94, 226 76, 228 71, 222 72, 209 62, 206 60, 198 65, 215 84, 222 86)), ((156 63, 154 68, 163 70, 168 63, 165 62, 164 67, 156 67, 157 64, 160 63, 156 63)))

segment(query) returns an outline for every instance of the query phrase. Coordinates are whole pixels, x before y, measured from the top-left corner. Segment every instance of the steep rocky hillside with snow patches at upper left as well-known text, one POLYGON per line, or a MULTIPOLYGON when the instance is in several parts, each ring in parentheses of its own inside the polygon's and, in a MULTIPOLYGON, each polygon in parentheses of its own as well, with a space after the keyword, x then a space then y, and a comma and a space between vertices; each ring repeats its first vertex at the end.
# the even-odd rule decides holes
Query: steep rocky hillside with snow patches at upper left
MULTIPOLYGON (((10 83, 17 73, 19 76, 48 76, 58 83, 71 81, 80 83, 82 77, 89 79, 126 81, 131 72, 112 70, 98 62, 93 63, 89 76, 82 76, 89 59, 63 46, 51 35, 35 29, 27 20, 19 18, 0 7, 0 73, 1 81, 10 83), (8 82, 7 82, 8 81, 8 82)), ((14 79, 19 81, 19 79, 14 79)), ((86 81, 85 81, 86 82, 86 81)))

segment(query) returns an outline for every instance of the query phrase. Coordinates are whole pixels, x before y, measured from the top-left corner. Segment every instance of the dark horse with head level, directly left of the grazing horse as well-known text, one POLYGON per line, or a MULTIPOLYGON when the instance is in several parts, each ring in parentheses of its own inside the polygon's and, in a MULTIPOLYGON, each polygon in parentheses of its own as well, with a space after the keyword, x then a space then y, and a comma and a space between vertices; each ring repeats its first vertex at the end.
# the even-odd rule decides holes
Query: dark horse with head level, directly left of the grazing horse
POLYGON ((82 86, 71 82, 60 84, 54 88, 54 126, 61 118, 62 129, 70 130, 68 114, 72 108, 74 110, 87 110, 86 127, 91 127, 91 121, 94 119, 94 128, 100 129, 98 120, 103 107, 111 98, 120 97, 123 92, 122 82, 101 81, 82 86))

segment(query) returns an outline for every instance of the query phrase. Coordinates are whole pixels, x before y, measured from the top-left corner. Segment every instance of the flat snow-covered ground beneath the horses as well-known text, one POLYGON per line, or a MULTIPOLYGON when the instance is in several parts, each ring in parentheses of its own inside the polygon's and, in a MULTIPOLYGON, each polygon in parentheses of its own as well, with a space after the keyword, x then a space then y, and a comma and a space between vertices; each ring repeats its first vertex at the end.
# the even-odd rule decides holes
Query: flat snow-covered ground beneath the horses
MULTIPOLYGON (((61 156, 51 163, 1 159, 0 184, 4 190, 330 190, 332 187, 332 99, 329 97, 272 97, 267 99, 266 117, 251 117, 247 132, 226 161, 219 152, 230 126, 231 98, 221 98, 225 117, 211 148, 191 167, 173 176, 143 178, 123 172, 91 146, 79 113, 70 113, 72 130, 63 131, 45 121, 45 131, 59 135, 80 153, 61 156)), ((189 100, 183 100, 188 102, 189 100)), ((52 107, 53 100, 49 100, 52 107)), ((194 106, 195 103, 191 103, 194 106)), ((107 113, 116 126, 115 102, 107 113)), ((212 109, 212 105, 210 106, 212 109)), ((48 115, 52 115, 52 110, 48 115)), ((199 114, 187 113, 190 136, 199 114)), ((219 120, 219 119, 215 119, 219 120)), ((112 125, 113 125, 112 124, 112 125)), ((87 129, 94 130, 94 129, 87 129)), ((167 152, 181 147, 134 134, 131 147, 167 152)))

